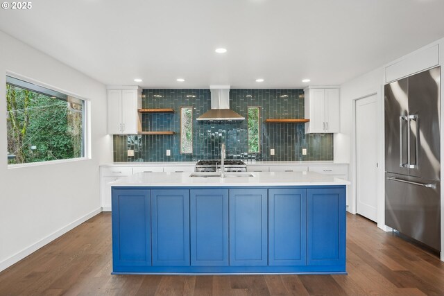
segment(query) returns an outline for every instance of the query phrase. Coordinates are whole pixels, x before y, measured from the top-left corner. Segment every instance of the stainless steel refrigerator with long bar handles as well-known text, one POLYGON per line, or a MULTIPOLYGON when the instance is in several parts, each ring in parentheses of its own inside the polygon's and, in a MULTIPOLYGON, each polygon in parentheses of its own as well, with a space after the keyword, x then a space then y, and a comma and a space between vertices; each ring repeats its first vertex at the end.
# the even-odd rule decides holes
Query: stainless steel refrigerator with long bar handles
POLYGON ((441 250, 440 67, 384 87, 386 225, 441 250))

